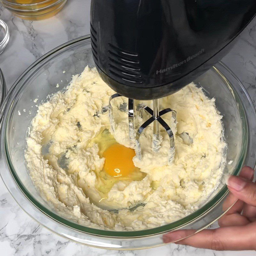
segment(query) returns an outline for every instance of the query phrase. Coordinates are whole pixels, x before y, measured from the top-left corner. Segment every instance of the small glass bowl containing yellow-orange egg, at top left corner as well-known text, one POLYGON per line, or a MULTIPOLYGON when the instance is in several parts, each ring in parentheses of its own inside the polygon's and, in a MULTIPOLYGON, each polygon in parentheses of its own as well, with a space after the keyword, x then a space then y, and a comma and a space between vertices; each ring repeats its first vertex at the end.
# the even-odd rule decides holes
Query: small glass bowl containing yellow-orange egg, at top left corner
POLYGON ((24 20, 43 20, 54 16, 67 0, 0 0, 0 3, 24 20))

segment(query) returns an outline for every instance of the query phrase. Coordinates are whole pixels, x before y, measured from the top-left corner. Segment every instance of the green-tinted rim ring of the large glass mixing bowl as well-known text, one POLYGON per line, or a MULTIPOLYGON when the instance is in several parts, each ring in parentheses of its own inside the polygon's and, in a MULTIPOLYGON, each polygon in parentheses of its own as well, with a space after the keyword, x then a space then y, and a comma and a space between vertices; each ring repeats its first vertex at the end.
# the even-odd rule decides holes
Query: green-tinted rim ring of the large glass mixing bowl
MULTIPOLYGON (((89 41, 90 40, 90 36, 82 36, 82 37, 79 37, 77 39, 74 39, 74 40, 71 40, 69 41, 68 43, 65 43, 65 44, 62 44, 60 45, 59 47, 56 47, 55 49, 53 49, 52 51, 46 53, 44 56, 42 56, 40 59, 38 59, 36 62, 34 62, 30 67, 28 67, 23 73, 22 75, 17 79, 17 81, 13 84, 12 86, 12 89, 10 90, 10 92, 8 93, 8 96, 11 95, 11 92, 13 91, 13 89, 16 87, 16 85, 20 82, 20 80, 26 76, 28 74, 28 72, 33 69, 34 67, 36 67, 40 62, 42 62, 43 60, 45 60, 46 58, 50 57, 52 54, 54 54, 55 52, 58 52, 60 51, 61 49, 69 46, 69 45, 72 45, 74 43, 77 43, 77 42, 80 42, 80 41, 84 41, 84 40, 87 40, 89 41)), ((226 68, 226 66, 222 63, 220 63, 224 68, 226 68)), ((233 72, 230 72, 231 75, 233 75, 233 72)), ((236 78, 236 80, 239 82, 239 84, 242 86, 242 88, 244 89, 244 86, 242 85, 242 83, 236 78)), ((244 111, 244 107, 243 107, 243 104, 242 102, 240 101, 240 98, 238 97, 238 95, 236 94, 236 91, 234 91, 241 108, 243 109, 244 111)), ((248 93, 247 93, 248 94, 248 93)), ((250 99, 250 96, 248 95, 249 97, 249 100, 250 99)), ((11 109, 11 108, 10 108, 11 109)), ((5 121, 8 120, 8 117, 9 117, 9 114, 10 114, 10 109, 9 109, 9 113, 8 113, 8 116, 5 118, 5 121)), ((255 111, 255 108, 254 108, 254 111, 255 111)), ((245 113, 245 112, 244 112, 245 113)), ((248 127, 247 127, 247 117, 245 115, 245 118, 243 119, 245 120, 245 130, 248 131, 248 127)), ((5 124, 5 123, 4 123, 5 124)), ((7 126, 5 124, 5 129, 4 129, 4 133, 6 135, 6 131, 7 131, 7 126)), ((5 137, 5 141, 4 141, 4 149, 5 149, 5 156, 8 156, 8 142, 7 142, 7 139, 6 139, 6 136, 5 137)), ((244 150, 247 151, 247 142, 248 142, 248 132, 247 132, 247 140, 246 140, 246 146, 244 147, 244 150)), ((245 160, 245 157, 246 157, 246 154, 243 154, 243 158, 240 159, 240 161, 238 162, 238 166, 236 167, 236 172, 234 172, 235 175, 238 175, 239 172, 241 171, 241 168, 244 164, 244 160, 245 160)), ((134 238, 134 237, 145 237, 145 236, 154 236, 154 235, 157 235, 157 234, 161 234, 161 233, 164 233, 164 232, 168 232, 170 230, 173 229, 173 226, 174 226, 174 223, 179 223, 181 220, 182 222, 186 219, 188 219, 188 217, 190 216, 195 216, 194 218, 192 218, 192 220, 190 220, 189 222, 186 222, 185 225, 188 225, 189 223, 191 223, 191 221, 194 221, 195 219, 198 219, 199 217, 202 217, 204 214, 206 214, 207 212, 211 211, 212 208, 220 203, 221 199, 227 195, 228 193, 228 188, 227 186, 223 186, 223 188, 217 193, 217 195, 215 195, 209 202, 207 202, 206 204, 204 204, 204 206, 200 209, 198 209, 196 212, 193 212, 191 213, 190 215, 186 216, 185 218, 182 218, 181 220, 178 220, 178 221, 175 221, 175 222, 172 222, 172 223, 169 223, 169 224, 166 224, 166 225, 163 225, 163 226, 160 226, 160 227, 156 227, 156 228, 151 228, 151 229, 143 229, 143 230, 137 230, 137 231, 112 231, 112 230, 100 230, 100 229, 96 229, 96 228, 88 228, 88 227, 85 227, 85 226, 82 226, 82 225, 79 225, 79 224, 76 224, 70 220, 67 220, 65 218, 62 218, 60 217, 59 215, 51 212, 50 210, 46 209, 44 206, 42 206, 40 204, 41 207, 38 207, 37 204, 39 204, 37 202, 36 199, 32 198, 31 200, 31 195, 29 195, 29 193, 26 193, 26 188, 24 190, 24 187, 23 185, 19 182, 19 178, 18 176, 15 174, 15 170, 14 167, 12 166, 12 163, 11 161, 9 161, 8 157, 6 157, 6 160, 7 160, 7 164, 8 164, 8 167, 9 167, 9 170, 12 174, 12 177, 14 179, 14 181, 16 182, 17 186, 19 187, 19 189, 21 190, 21 192, 23 193, 23 195, 25 195, 28 200, 34 204, 34 206, 40 210, 41 212, 43 212, 45 215, 47 215, 48 217, 52 218, 53 220, 55 220, 56 222, 59 222, 60 224, 64 225, 64 226, 68 226, 68 228, 73 228, 77 231, 80 231, 80 232, 83 232, 85 234, 90 234, 90 235, 96 235, 96 236, 104 236, 104 237, 111 237, 111 238, 134 238), (24 192, 25 191, 25 192, 24 192), (29 198, 30 197, 30 198, 29 198), (217 200, 216 200, 217 198, 217 200), (214 199, 214 200, 213 200, 214 199), (215 201, 215 203, 212 205, 212 207, 208 207, 208 205, 210 203, 212 203, 212 201, 215 201), (207 206, 207 207, 206 207, 207 206), (44 210, 42 210, 44 209, 44 210), (207 209, 207 211, 206 211, 207 209), (202 211, 203 210, 203 211, 202 211), (200 212, 200 214, 198 214, 198 212, 200 212), (145 234, 146 233, 146 234, 145 234)), ((255 166, 254 166, 255 167, 255 166)), ((184 226, 184 224, 180 224, 180 225, 176 225, 175 228, 180 228, 184 226)))

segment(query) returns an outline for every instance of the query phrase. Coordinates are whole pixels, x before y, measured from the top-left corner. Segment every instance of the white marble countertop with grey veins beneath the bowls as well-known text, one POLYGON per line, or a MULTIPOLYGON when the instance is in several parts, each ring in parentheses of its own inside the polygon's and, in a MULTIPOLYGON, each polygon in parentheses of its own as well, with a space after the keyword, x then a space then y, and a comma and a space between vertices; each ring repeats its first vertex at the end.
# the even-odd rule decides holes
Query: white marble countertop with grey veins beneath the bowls
MULTIPOLYGON (((8 89, 18 76, 38 57, 54 47, 89 34, 90 0, 68 0, 55 17, 41 21, 25 21, 14 17, 0 5, 0 19, 10 29, 10 41, 0 55, 8 89)), ((240 36, 236 46, 223 59, 256 101, 256 19, 240 36)), ((216 224, 215 224, 216 226, 216 224)), ((32 220, 16 204, 0 180, 0 254, 8 255, 190 255, 249 256, 256 252, 216 252, 182 245, 165 245, 141 251, 107 251, 95 249, 61 238, 32 220)))

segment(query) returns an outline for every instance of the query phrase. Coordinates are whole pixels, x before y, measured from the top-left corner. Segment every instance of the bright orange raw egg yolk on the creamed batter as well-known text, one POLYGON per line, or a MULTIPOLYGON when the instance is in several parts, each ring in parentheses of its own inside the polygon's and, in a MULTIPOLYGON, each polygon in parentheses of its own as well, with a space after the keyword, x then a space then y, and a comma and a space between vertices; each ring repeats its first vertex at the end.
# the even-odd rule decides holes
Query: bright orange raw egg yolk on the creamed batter
POLYGON ((126 148, 118 143, 113 144, 103 153, 105 158, 103 170, 115 178, 125 177, 135 169, 133 156, 135 151, 132 148, 126 148))

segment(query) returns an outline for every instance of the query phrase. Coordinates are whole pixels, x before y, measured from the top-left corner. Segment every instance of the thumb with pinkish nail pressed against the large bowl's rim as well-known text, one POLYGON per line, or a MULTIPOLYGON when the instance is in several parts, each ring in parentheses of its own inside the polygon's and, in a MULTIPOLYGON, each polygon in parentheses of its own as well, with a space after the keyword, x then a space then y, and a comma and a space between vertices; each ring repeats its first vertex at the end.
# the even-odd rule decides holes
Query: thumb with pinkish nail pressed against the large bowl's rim
POLYGON ((256 206, 256 184, 244 178, 230 176, 227 181, 228 189, 238 199, 256 206))

